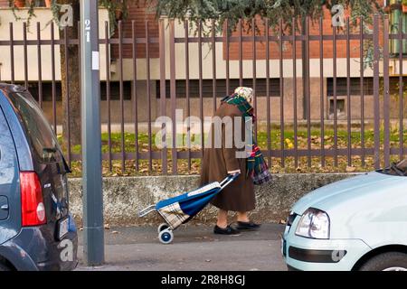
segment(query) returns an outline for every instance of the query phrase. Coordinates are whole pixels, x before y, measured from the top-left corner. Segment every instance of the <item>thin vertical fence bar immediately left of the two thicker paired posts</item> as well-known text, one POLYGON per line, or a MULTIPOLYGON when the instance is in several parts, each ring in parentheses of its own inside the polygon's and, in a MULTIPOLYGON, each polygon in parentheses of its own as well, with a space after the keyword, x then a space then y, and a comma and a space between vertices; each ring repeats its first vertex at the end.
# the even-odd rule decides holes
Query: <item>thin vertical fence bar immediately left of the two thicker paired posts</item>
MULTIPOLYGON (((148 103, 148 110, 147 110, 147 121, 148 121, 148 172, 153 171, 153 145, 152 139, 153 134, 151 131, 151 86, 150 86, 150 38, 148 33, 148 20, 146 21, 146 64, 147 64, 147 103, 148 103)), ((164 37, 164 36, 163 36, 164 37)))

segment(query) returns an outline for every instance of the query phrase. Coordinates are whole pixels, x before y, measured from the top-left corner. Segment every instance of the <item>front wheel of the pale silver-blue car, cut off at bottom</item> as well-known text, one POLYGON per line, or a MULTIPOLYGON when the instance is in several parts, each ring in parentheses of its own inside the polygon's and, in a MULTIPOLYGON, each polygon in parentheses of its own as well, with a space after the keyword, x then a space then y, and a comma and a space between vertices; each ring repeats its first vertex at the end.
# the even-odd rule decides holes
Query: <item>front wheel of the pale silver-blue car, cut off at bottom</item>
POLYGON ((388 252, 374 256, 360 271, 407 271, 407 254, 401 252, 388 252))

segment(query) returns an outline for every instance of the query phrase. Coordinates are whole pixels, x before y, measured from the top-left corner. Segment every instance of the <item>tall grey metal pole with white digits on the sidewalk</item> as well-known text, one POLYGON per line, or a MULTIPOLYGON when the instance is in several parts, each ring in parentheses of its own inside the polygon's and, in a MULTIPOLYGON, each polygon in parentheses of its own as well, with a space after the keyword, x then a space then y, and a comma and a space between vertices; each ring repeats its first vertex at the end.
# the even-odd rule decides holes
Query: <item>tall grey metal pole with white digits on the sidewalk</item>
POLYGON ((98 0, 80 1, 83 256, 87 266, 104 263, 98 14, 98 0))

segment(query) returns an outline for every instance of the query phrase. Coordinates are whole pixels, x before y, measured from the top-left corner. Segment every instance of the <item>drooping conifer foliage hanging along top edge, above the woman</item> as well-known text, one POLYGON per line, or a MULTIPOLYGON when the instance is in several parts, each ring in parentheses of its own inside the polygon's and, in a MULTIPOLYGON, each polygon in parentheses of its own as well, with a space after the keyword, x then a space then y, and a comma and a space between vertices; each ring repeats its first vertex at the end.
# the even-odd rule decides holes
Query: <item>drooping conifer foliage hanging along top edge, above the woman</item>
POLYGON ((372 15, 382 11, 377 0, 157 0, 156 16, 166 15, 169 18, 193 23, 216 20, 219 30, 227 20, 232 30, 239 19, 251 22, 254 17, 268 18, 270 27, 279 25, 280 19, 289 29, 299 29, 300 22, 292 19, 309 16, 317 20, 323 15, 324 8, 331 10, 334 5, 343 5, 351 9, 350 19, 356 23, 363 17, 366 23, 372 23, 372 15))

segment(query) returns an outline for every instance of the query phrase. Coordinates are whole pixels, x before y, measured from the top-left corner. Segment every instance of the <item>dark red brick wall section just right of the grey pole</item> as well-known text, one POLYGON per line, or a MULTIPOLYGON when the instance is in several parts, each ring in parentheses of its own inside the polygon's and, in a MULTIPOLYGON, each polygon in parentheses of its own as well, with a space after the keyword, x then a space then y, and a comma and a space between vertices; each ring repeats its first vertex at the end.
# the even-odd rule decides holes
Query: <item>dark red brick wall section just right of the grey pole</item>
MULTIPOLYGON (((158 37, 158 21, 156 20, 156 14, 150 12, 148 8, 140 5, 130 5, 128 11, 128 19, 123 23, 123 38, 132 37, 132 21, 136 25, 136 37, 146 37, 146 21, 148 21, 148 36, 158 37)), ((118 37, 118 32, 113 36, 118 37)), ((132 45, 123 45, 123 58, 133 58, 132 45)), ((112 58, 118 59, 118 45, 112 45, 112 58)), ((150 58, 158 58, 159 47, 158 43, 149 44, 150 58)), ((137 58, 146 57, 146 44, 137 44, 137 58)))

